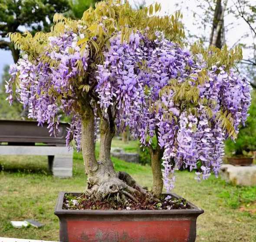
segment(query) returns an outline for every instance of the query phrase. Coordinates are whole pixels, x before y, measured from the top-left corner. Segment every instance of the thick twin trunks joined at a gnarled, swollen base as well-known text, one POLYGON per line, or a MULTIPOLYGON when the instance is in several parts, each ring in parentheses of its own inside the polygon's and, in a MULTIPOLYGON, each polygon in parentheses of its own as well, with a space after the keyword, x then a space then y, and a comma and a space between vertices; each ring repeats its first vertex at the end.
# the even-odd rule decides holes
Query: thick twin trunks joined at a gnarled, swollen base
MULTIPOLYGON (((91 113, 91 116, 93 117, 93 113, 91 113)), ((96 162, 94 155, 93 125, 94 118, 83 119, 82 151, 85 160, 85 170, 88 173, 85 193, 96 199, 102 199, 109 194, 117 194, 118 197, 124 197, 124 194, 128 194, 128 196, 132 197, 131 194, 135 192, 145 192, 127 173, 115 172, 110 157, 111 142, 115 134, 115 125, 112 121, 108 121, 105 118, 102 118, 100 125, 100 153, 99 161, 96 162), (85 143, 90 143, 90 145, 85 143), (93 148, 93 154, 90 147, 93 148)))

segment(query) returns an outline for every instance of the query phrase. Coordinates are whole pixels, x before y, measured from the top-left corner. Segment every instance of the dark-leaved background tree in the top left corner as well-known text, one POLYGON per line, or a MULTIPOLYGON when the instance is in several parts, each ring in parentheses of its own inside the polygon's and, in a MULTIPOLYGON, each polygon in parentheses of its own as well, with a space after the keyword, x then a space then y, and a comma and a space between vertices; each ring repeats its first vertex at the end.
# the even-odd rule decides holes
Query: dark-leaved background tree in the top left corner
POLYGON ((8 40, 9 32, 49 31, 55 13, 70 10, 69 0, 0 0, 0 48, 10 50, 16 63, 20 51, 8 40))

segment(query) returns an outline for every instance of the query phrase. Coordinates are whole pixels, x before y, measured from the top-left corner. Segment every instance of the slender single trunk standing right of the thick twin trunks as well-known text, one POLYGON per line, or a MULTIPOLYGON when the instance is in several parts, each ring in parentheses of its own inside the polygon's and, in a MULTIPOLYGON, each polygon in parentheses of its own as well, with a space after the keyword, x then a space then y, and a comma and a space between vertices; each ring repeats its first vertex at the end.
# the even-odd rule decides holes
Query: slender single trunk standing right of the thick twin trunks
POLYGON ((149 150, 151 156, 151 168, 153 173, 152 192, 155 196, 159 197, 162 193, 164 183, 161 171, 161 159, 163 156, 163 152, 159 145, 157 145, 157 148, 155 150, 152 147, 149 150))

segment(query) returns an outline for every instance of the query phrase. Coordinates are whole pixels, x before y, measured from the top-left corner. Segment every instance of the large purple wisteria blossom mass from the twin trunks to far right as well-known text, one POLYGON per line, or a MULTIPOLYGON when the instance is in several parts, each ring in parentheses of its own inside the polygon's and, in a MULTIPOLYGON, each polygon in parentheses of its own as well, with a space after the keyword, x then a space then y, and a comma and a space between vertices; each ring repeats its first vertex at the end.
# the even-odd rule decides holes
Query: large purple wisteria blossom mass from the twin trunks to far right
POLYGON ((164 185, 171 190, 175 167, 192 171, 200 163, 197 179, 208 178, 211 170, 218 174, 224 140, 230 133, 235 137, 247 118, 250 87, 233 70, 216 65, 207 69, 201 56, 193 56, 161 33, 156 36, 149 41, 146 36, 138 34, 136 39, 132 35, 125 44, 120 37, 113 39, 104 53, 104 64, 98 67, 97 92, 102 108, 117 102, 118 127, 128 125, 143 145, 158 136, 164 150, 164 185), (200 72, 205 75, 203 83, 200 72), (171 79, 179 90, 172 88, 171 79), (177 99, 183 84, 195 92, 187 100, 177 99), (164 87, 169 90, 160 95, 164 87), (227 118, 225 111, 230 114, 227 118), (232 123, 232 131, 223 127, 220 114, 232 123))

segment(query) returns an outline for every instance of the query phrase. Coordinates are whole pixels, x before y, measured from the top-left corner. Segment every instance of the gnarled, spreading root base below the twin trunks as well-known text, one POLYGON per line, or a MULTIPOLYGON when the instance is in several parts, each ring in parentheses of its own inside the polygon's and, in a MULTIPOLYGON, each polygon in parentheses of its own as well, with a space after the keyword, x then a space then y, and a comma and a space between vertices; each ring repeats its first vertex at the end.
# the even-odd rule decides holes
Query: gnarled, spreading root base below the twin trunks
POLYGON ((128 173, 116 173, 114 168, 109 169, 108 166, 100 166, 96 174, 88 177, 87 183, 85 195, 90 204, 104 204, 103 207, 118 209, 153 209, 160 202, 147 188, 138 185, 128 173))

